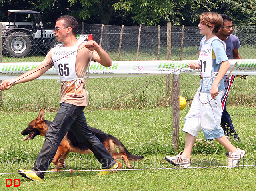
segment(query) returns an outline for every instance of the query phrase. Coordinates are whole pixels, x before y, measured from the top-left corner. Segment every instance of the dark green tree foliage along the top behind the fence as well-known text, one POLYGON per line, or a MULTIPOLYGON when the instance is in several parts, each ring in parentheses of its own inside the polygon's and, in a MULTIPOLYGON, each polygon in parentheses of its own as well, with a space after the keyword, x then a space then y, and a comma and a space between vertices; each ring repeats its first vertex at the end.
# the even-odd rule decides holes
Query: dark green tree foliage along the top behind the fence
POLYGON ((239 26, 256 25, 255 0, 0 0, 0 19, 7 10, 37 10, 44 22, 64 14, 78 22, 112 25, 197 25, 202 12, 227 14, 239 26))

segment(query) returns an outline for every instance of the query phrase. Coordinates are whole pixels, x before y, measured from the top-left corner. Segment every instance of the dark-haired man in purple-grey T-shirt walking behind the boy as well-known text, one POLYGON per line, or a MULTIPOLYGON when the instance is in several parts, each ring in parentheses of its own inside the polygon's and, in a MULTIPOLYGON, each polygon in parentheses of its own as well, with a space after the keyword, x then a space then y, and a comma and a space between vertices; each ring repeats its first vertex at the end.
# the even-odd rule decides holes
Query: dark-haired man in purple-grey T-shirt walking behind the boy
MULTIPOLYGON (((233 32, 233 24, 232 24, 232 18, 228 15, 222 14, 223 18, 223 26, 218 30, 218 33, 216 33, 216 36, 224 41, 226 43, 226 54, 228 56, 228 59, 242 59, 240 54, 238 53, 238 48, 241 47, 240 41, 236 35, 232 35, 233 32)), ((202 41, 204 41, 205 38, 202 38, 202 41)), ((199 47, 199 54, 201 51, 201 45, 199 47)), ((224 76, 224 82, 225 87, 227 87, 224 95, 222 96, 222 118, 221 118, 221 124, 220 126, 223 128, 224 133, 228 137, 234 137, 234 140, 240 140, 238 137, 238 134, 236 133, 236 130, 234 129, 230 114, 228 113, 226 109, 226 102, 228 98, 228 92, 232 86, 232 83, 234 81, 234 78, 236 76, 230 75, 229 79, 226 79, 227 76, 224 76)), ((246 76, 241 76, 241 78, 245 78, 246 76)))

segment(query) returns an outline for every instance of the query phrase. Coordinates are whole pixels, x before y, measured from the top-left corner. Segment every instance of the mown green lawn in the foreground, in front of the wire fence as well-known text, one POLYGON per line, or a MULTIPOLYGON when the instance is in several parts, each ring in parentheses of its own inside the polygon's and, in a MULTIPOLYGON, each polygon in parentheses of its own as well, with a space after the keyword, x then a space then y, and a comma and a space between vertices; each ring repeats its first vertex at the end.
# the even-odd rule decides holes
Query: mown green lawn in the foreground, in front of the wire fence
MULTIPOLYGON (((184 124, 184 116, 189 110, 187 106, 180 112, 180 129, 184 124)), ((5 179, 19 178, 19 191, 40 190, 255 190, 256 171, 256 114, 254 107, 228 106, 228 111, 241 142, 232 142, 235 146, 246 150, 244 160, 239 167, 226 169, 227 158, 220 144, 207 145, 202 132, 198 136, 192 154, 193 169, 163 169, 170 168, 164 161, 166 155, 176 155, 184 147, 185 133, 180 132, 180 147, 178 151, 172 148, 172 109, 122 109, 96 110, 86 114, 88 125, 99 128, 108 134, 116 136, 132 154, 143 155, 145 158, 135 163, 136 171, 118 171, 108 176, 97 176, 97 171, 74 172, 74 189, 69 172, 46 173, 44 181, 33 182, 18 174, 0 175, 1 190, 5 187, 5 179), (204 167, 204 168, 202 168, 204 167), (157 168, 157 169, 151 169, 157 168)), ((37 136, 27 140, 20 132, 34 120, 38 112, 1 112, 0 126, 0 173, 17 172, 18 168, 30 169, 44 138, 37 136)), ((46 113, 45 118, 52 120, 55 113, 46 113)), ((180 130, 181 131, 181 130, 180 130)), ((100 169, 93 155, 70 154, 67 158, 68 167, 73 170, 100 169), (92 161, 92 165, 90 162, 92 161)), ((51 165, 50 169, 53 169, 51 165)), ((125 169, 125 167, 122 167, 125 169)), ((14 188, 15 189, 15 188, 14 188)))

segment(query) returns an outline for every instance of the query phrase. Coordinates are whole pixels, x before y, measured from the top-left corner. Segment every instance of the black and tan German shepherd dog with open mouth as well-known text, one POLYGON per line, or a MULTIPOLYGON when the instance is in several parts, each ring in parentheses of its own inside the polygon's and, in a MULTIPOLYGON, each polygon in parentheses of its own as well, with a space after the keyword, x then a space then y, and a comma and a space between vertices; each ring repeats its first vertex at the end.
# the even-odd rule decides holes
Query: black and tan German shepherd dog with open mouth
MULTIPOLYGON (((44 110, 41 109, 38 117, 32 122, 30 122, 28 124, 28 127, 21 132, 22 135, 28 135, 28 137, 26 137, 24 141, 28 139, 32 140, 37 135, 46 136, 46 131, 48 130, 51 123, 51 121, 44 119, 44 110)), ((106 134, 101 130, 90 126, 88 126, 88 128, 90 128, 90 130, 92 130, 96 137, 102 142, 102 144, 106 147, 107 151, 111 154, 111 156, 114 159, 122 159, 127 168, 134 168, 132 165, 130 165, 129 160, 138 161, 144 158, 144 156, 130 154, 130 152, 128 152, 128 150, 122 144, 122 142, 118 140, 116 137, 110 134, 106 134), (115 145, 119 148, 119 153, 116 152, 115 145)), ((86 145, 80 143, 76 139, 74 133, 69 130, 67 134, 64 136, 63 140, 60 142, 60 146, 58 147, 54 159, 52 160, 52 163, 57 165, 54 171, 66 167, 66 164, 64 162, 70 152, 76 152, 80 154, 92 153, 92 151, 86 145)), ((121 169, 122 163, 120 163, 119 161, 116 162, 119 165, 117 169, 121 169)))

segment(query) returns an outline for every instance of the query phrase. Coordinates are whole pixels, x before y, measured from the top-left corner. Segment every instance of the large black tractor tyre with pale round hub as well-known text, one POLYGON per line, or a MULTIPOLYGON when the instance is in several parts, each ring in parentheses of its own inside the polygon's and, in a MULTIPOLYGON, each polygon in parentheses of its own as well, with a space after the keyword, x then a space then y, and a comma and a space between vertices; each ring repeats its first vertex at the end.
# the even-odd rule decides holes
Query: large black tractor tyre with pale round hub
POLYGON ((4 52, 7 56, 21 58, 30 53, 30 37, 22 31, 14 31, 4 37, 4 52))

